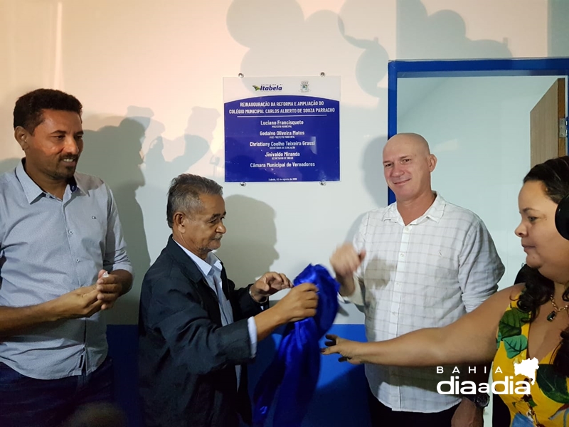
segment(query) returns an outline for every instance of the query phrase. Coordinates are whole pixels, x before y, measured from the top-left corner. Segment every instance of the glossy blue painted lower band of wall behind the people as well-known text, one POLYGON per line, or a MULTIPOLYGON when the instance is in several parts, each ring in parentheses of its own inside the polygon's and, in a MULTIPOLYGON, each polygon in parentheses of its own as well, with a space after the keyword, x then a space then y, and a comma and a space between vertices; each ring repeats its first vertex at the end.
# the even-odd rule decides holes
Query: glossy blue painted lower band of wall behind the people
MULTIPOLYGON (((329 333, 366 341, 363 325, 334 325, 329 333)), ((129 427, 142 426, 137 393, 137 334, 137 325, 107 327, 109 353, 115 365, 115 396, 117 404, 127 413, 129 427)), ((249 391, 255 389, 262 372, 272 361, 280 339, 280 331, 277 331, 259 343, 257 360, 249 365, 249 391)), ((320 346, 324 347, 324 339, 320 346)), ((340 363, 336 356, 321 358, 317 390, 302 427, 368 427, 368 384, 363 365, 340 363)))

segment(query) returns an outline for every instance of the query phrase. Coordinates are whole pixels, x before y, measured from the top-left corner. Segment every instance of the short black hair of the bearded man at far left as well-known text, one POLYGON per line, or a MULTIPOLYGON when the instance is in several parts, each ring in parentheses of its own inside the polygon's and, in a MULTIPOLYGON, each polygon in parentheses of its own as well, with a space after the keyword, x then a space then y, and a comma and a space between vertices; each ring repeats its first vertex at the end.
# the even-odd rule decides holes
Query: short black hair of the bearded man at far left
POLYGON ((14 129, 21 126, 31 134, 43 122, 43 110, 83 112, 81 102, 68 93, 55 89, 36 89, 22 95, 14 106, 14 129))

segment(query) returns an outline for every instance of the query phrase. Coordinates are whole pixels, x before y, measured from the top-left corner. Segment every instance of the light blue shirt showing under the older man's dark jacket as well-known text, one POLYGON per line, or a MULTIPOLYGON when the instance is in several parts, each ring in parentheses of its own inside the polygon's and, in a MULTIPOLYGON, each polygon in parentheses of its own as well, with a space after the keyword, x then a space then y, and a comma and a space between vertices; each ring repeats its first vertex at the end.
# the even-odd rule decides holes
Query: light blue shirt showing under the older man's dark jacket
MULTIPOLYGON (((213 289, 213 292, 216 292, 218 296, 218 303, 219 303, 219 311, 221 314, 221 325, 229 325, 233 323, 233 307, 231 307, 231 303, 225 297, 225 293, 223 293, 222 283, 221 283, 221 270, 222 265, 221 261, 219 260, 216 255, 213 253, 208 253, 206 260, 201 259, 198 255, 191 253, 188 251, 184 246, 181 246, 180 243, 176 242, 180 248, 184 250, 185 253, 193 260, 194 263, 198 266, 203 275, 203 278, 206 279, 209 287, 213 289)), ((255 323, 255 319, 253 317, 249 317, 247 320, 247 326, 249 328, 249 340, 251 343, 251 355, 255 357, 257 354, 257 324, 255 323)), ((237 388, 239 388, 239 382, 241 378, 241 366, 235 365, 235 374, 237 374, 237 388)))

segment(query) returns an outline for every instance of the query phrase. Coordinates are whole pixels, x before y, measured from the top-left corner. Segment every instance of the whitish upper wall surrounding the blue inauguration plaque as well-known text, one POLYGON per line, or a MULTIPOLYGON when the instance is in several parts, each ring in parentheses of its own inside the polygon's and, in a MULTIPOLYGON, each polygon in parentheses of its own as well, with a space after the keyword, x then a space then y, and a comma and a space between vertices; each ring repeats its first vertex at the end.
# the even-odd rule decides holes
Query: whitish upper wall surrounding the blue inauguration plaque
POLYGON ((341 75, 340 182, 223 184, 220 256, 230 276, 245 284, 270 268, 294 277, 307 263, 328 265, 358 216, 386 203, 388 60, 567 54, 565 23, 551 20, 563 8, 533 0, 0 0, 0 169, 21 156, 11 137, 18 95, 52 87, 83 102, 79 169, 115 191, 137 269, 111 320, 135 323, 142 275, 169 235, 169 180, 192 172, 223 184, 223 76, 341 75))

